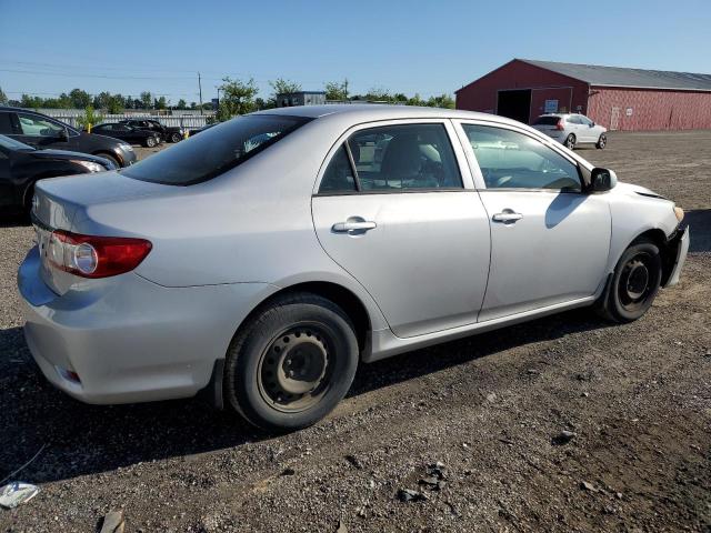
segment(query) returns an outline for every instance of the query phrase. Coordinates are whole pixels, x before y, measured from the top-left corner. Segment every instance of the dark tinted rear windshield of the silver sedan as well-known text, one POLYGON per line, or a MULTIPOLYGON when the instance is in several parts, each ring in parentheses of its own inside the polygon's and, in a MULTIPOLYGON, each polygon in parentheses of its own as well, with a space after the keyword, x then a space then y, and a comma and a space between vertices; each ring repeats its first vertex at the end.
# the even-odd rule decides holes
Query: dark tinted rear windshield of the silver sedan
POLYGON ((168 185, 190 185, 211 180, 310 120, 277 114, 239 117, 128 167, 121 173, 168 185))

